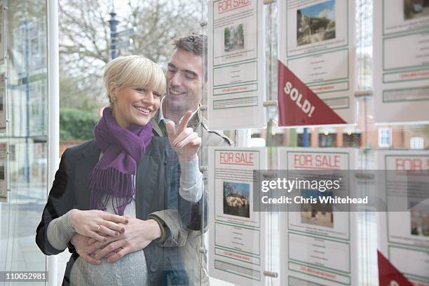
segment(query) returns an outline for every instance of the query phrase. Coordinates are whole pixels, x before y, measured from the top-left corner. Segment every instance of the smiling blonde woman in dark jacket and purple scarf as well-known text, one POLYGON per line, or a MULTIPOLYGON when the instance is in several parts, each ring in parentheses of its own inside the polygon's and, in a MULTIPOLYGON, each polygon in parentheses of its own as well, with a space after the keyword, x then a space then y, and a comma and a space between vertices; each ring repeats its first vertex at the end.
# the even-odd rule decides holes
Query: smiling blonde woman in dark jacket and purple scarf
POLYGON ((69 247, 63 285, 186 283, 177 247, 156 243, 170 231, 154 213, 177 208, 181 223, 200 226, 201 139, 186 128, 191 112, 177 130, 168 123, 169 144, 153 137, 150 123, 165 94, 161 67, 120 57, 107 64, 103 79, 111 106, 95 139, 64 151, 36 243, 47 255, 69 247), (97 241, 82 257, 70 244, 76 233, 97 241))

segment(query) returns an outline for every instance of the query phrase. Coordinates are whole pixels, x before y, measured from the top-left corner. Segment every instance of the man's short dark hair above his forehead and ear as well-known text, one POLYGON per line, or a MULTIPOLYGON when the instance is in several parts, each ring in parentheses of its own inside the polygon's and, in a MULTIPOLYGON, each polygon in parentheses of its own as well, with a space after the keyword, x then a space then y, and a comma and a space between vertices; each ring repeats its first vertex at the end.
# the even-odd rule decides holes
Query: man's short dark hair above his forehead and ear
POLYGON ((199 55, 204 59, 204 80, 207 81, 207 36, 203 34, 187 34, 179 39, 175 39, 176 49, 186 50, 189 53, 199 55))

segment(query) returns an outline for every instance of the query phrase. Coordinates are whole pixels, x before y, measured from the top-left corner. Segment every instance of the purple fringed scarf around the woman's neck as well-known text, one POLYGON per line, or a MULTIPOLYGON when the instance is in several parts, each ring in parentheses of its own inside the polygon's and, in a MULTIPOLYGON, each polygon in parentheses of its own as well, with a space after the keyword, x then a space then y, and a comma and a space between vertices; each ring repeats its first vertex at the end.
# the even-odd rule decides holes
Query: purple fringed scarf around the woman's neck
POLYGON ((123 215, 135 193, 137 163, 154 137, 152 125, 122 128, 105 108, 95 125, 94 137, 103 156, 90 174, 90 209, 107 210, 111 198, 115 213, 123 215))

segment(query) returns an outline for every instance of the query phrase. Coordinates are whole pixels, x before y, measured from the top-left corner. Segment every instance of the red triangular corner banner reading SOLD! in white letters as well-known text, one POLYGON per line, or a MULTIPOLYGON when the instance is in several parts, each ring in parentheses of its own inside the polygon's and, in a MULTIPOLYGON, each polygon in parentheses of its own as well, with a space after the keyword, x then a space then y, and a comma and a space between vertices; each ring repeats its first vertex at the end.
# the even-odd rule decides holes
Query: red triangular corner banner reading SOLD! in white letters
POLYGON ((279 126, 346 124, 313 90, 278 61, 279 126))

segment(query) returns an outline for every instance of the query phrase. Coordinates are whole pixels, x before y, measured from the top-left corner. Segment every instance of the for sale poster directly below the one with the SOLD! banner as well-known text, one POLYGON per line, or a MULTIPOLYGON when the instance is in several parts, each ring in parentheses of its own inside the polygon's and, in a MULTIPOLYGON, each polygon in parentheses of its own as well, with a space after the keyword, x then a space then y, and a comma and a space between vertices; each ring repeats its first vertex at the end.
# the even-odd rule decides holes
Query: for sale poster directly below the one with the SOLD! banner
MULTIPOLYGON (((355 150, 280 148, 279 158, 289 181, 304 176, 311 182, 318 177, 325 180, 327 172, 333 172, 345 186, 342 196, 350 194, 355 150)), ((334 198, 341 193, 321 188, 290 193, 294 204, 280 217, 281 285, 358 285, 355 212, 334 211, 332 203, 316 203, 320 196, 334 198)))

